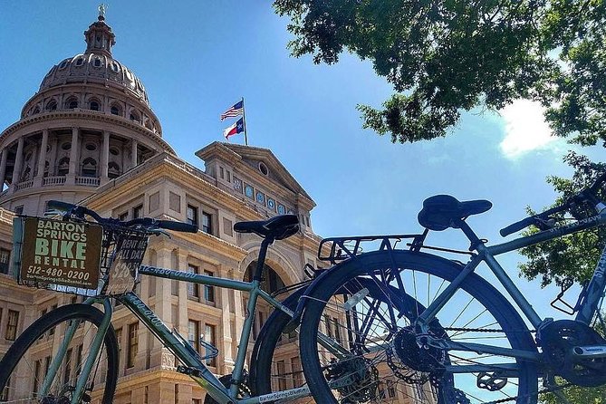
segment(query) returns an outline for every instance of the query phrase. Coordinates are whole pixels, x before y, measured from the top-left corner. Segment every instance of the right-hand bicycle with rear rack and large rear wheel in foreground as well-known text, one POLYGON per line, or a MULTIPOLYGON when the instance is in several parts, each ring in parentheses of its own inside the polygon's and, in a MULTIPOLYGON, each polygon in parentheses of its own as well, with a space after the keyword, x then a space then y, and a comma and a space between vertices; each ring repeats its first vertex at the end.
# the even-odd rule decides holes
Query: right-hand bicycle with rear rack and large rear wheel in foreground
POLYGON ((573 320, 539 316, 495 259, 604 226, 606 204, 598 197, 604 182, 606 173, 562 206, 506 226, 502 236, 528 226, 540 231, 503 244, 486 245, 466 222, 490 209, 489 201, 446 195, 424 201, 418 214, 422 234, 322 240, 319 258, 334 266, 306 288, 292 321, 301 324, 303 372, 313 397, 322 403, 405 398, 419 404, 534 404, 543 392, 567 402, 563 389, 569 386, 606 384, 606 341, 598 332, 606 330, 606 247, 591 282, 569 305, 573 320), (563 224, 571 220, 565 213, 580 206, 594 213, 563 224), (426 244, 430 230, 448 228, 467 236, 468 251, 426 244), (406 247, 399 247, 406 239, 406 247), (369 242, 379 247, 363 252, 369 242), (330 254, 322 255, 326 248, 330 254), (421 250, 468 258, 463 264, 421 250), (475 273, 483 262, 512 302, 475 273), (337 346, 319 344, 318 330, 337 346))

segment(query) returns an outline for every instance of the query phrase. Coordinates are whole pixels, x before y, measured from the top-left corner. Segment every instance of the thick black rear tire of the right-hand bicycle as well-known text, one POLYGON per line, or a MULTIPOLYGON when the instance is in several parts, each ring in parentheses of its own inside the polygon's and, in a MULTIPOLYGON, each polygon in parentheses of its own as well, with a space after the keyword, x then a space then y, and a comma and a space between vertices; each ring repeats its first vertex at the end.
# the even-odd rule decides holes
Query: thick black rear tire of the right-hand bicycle
MULTIPOLYGON (((436 399, 438 401, 438 404, 476 403, 501 401, 507 399, 507 397, 517 397, 517 399, 515 399, 515 402, 517 404, 536 403, 538 375, 535 365, 529 362, 517 361, 517 368, 514 370, 515 375, 517 375, 517 378, 514 379, 517 382, 514 382, 513 384, 513 389, 516 390, 515 396, 510 396, 510 394, 507 392, 496 390, 495 392, 491 392, 492 395, 490 396, 490 399, 486 400, 484 399, 484 395, 481 396, 481 398, 478 398, 476 396, 476 388, 472 386, 472 384, 476 383, 470 383, 467 375, 454 375, 445 371, 444 374, 439 378, 439 387, 437 389, 438 391, 434 391, 436 389, 427 387, 428 383, 430 382, 430 379, 426 380, 421 378, 421 376, 425 377, 425 373, 419 370, 423 368, 418 367, 417 369, 412 369, 406 366, 402 366, 402 368, 411 370, 411 372, 408 373, 408 376, 403 375, 404 370, 399 371, 398 373, 396 370, 399 370, 400 365, 409 364, 409 362, 406 361, 406 359, 408 358, 406 355, 409 355, 408 353, 406 353, 409 349, 407 345, 404 345, 403 343, 399 345, 402 347, 407 347, 402 349, 402 352, 405 352, 402 354, 402 356, 393 353, 394 351, 397 351, 395 347, 400 343, 396 341, 404 341, 405 338, 401 337, 400 340, 398 340, 396 336, 409 335, 406 332, 400 333, 406 327, 402 327, 402 324, 398 324, 398 322, 391 324, 389 322, 381 323, 380 327, 383 328, 379 328, 379 332, 377 332, 377 334, 380 336, 373 335, 371 338, 364 340, 364 343, 368 344, 368 346, 363 346, 365 350, 371 351, 372 345, 374 344, 375 347, 386 347, 384 351, 380 351, 380 349, 375 349, 375 351, 378 352, 376 353, 376 355, 374 352, 372 353, 372 355, 375 356, 369 356, 367 353, 362 353, 358 357, 355 357, 357 361, 351 361, 351 359, 348 359, 347 363, 349 365, 345 364, 345 367, 343 367, 343 365, 341 364, 344 363, 344 361, 337 361, 335 364, 335 362, 329 362, 329 358, 326 358, 326 366, 323 366, 320 357, 326 355, 319 349, 319 345, 317 343, 317 331, 321 330, 322 316, 325 314, 324 308, 327 306, 326 302, 328 302, 329 299, 332 298, 332 296, 337 295, 338 293, 342 293, 344 288, 350 287, 351 284, 356 284, 360 282, 356 281, 357 279, 372 279, 372 282, 379 283, 380 279, 383 278, 378 276, 378 274, 381 274, 381 271, 385 271, 392 268, 392 263, 396 264, 396 266, 399 268, 398 274, 400 276, 400 279, 404 280, 404 278, 406 276, 409 276, 410 273, 412 273, 413 275, 415 273, 420 273, 423 274, 423 276, 427 275, 429 282, 431 279, 430 277, 441 279, 443 282, 442 284, 440 284, 440 289, 442 288, 442 285, 445 282, 449 283, 453 279, 455 279, 457 274, 459 274, 461 269, 463 268, 463 265, 448 261, 436 255, 428 255, 424 253, 413 253, 409 251, 398 250, 393 252, 371 252, 364 255, 360 255, 356 258, 344 261, 341 264, 336 265, 334 268, 332 268, 331 271, 327 272, 326 274, 323 274, 322 282, 318 283, 319 287, 313 291, 310 291, 309 295, 306 296, 308 300, 305 306, 305 311, 303 313, 303 320, 301 325, 300 345, 301 357, 303 358, 303 372, 305 375, 305 379, 308 382, 309 388, 310 390, 312 390, 313 397, 315 397, 316 399, 321 398, 322 403, 380 403, 388 401, 394 402, 393 398, 387 397, 388 393, 381 392, 378 386, 380 386, 380 383, 382 383, 383 380, 395 379, 396 383, 402 383, 399 386, 402 388, 402 390, 406 391, 403 392, 402 390, 397 390, 395 392, 395 395, 401 397, 402 395, 408 394, 408 399, 412 399, 413 403, 435 402, 436 399), (372 274, 372 276, 370 276, 370 274, 372 274), (386 332, 385 330, 389 330, 389 327, 391 327, 393 330, 397 330, 397 332, 386 332), (379 338, 385 338, 385 341, 379 340, 379 338), (380 344, 381 341, 382 344, 380 344), (388 360, 387 358, 391 359, 388 360), (379 361, 381 362, 379 363, 379 361), (359 370, 356 368, 354 372, 351 372, 351 370, 347 368, 347 366, 351 367, 351 364, 361 366, 364 370, 359 370), (341 368, 339 368, 340 365, 341 368), (347 369, 347 371, 344 371, 343 369, 347 369), (385 372, 385 369, 393 371, 390 377, 386 377, 380 374, 380 372, 385 372), (350 378, 354 377, 354 380, 355 377, 358 377, 358 375, 363 375, 363 377, 359 377, 358 380, 355 380, 355 383, 351 384, 351 386, 355 387, 355 389, 347 390, 349 388, 346 389, 341 387, 341 390, 338 388, 335 390, 331 390, 327 382, 327 377, 329 379, 332 378, 331 380, 333 381, 341 380, 335 379, 334 374, 336 370, 341 370, 341 372, 343 372, 342 374, 347 375, 350 378), (325 371, 327 373, 325 373, 325 371), (403 380, 409 382, 410 380, 413 380, 413 376, 414 378, 418 378, 415 380, 416 382, 418 382, 418 389, 420 389, 421 391, 419 392, 417 390, 408 393, 409 388, 405 386, 403 380), (466 381, 463 383, 460 382, 462 377, 467 378, 466 381), (429 395, 434 398, 430 398, 429 395)), ((383 290, 388 293, 388 290, 385 289, 385 286, 387 286, 387 284, 380 285, 379 287, 383 288, 383 290)), ((417 294, 416 287, 417 285, 415 284, 415 294, 417 294)), ((358 286, 358 289, 352 288, 351 293, 355 293, 356 290, 360 290, 360 286, 358 286)), ((476 301, 485 308, 485 312, 483 313, 489 313, 492 318, 498 323, 500 329, 503 330, 502 333, 504 334, 504 338, 508 342, 510 348, 536 352, 532 335, 528 331, 519 313, 515 311, 514 307, 507 302, 505 297, 501 293, 499 293, 494 286, 488 284, 486 280, 482 279, 477 274, 469 274, 464 280, 464 282, 460 285, 459 291, 461 291, 461 293, 466 293, 466 296, 467 294, 470 295, 472 298, 470 302, 476 301)), ((429 300, 431 294, 433 293, 428 292, 427 294, 429 300)), ((418 315, 415 312, 420 313, 422 310, 424 310, 424 307, 422 305, 418 305, 418 296, 408 295, 405 297, 403 295, 400 295, 400 297, 401 301, 397 303, 397 299, 394 299, 392 296, 390 297, 386 295, 385 302, 388 302, 392 307, 398 309, 400 312, 399 314, 401 314, 401 318, 405 318, 409 320, 409 322, 414 321, 414 317, 418 315), (412 300, 410 300, 410 297, 412 297, 412 300), (405 299, 408 303, 405 303, 405 299), (413 303, 416 307, 410 306, 410 302, 416 302, 413 303)), ((339 304, 344 305, 343 303, 339 304)), ((329 308, 332 312, 335 310, 335 307, 333 306, 329 306, 329 308)), ((360 313, 363 313, 365 310, 367 313, 370 313, 369 308, 362 308, 362 310, 360 310, 360 313)), ((467 310, 467 308, 464 309, 464 311, 465 310, 467 310)), ((433 327, 433 329, 431 330, 434 332, 434 335, 452 327, 452 324, 447 327, 444 327, 440 324, 440 313, 442 312, 439 312, 437 319, 430 324, 430 328, 433 327)), ((462 313, 458 315, 460 316, 462 313)), ((348 313, 347 315, 351 316, 351 313, 348 313)), ((322 327, 324 327, 324 330, 327 330, 323 323, 322 327)), ((355 330, 348 331, 356 332, 355 330)), ((470 332, 476 331, 470 329, 470 332)), ((353 335, 356 335, 356 338, 358 338, 357 334, 353 335)), ((451 335, 455 335, 455 333, 449 332, 447 338, 451 338, 451 335)), ((471 335, 474 334, 472 333, 471 335)), ((335 336, 335 338, 337 337, 335 336)), ((360 338, 362 339, 363 335, 360 338)), ((349 343, 350 346, 358 346, 356 344, 353 344, 351 340, 346 343, 349 343)), ((362 344, 360 346, 362 346, 362 344)), ((444 366, 444 369, 447 369, 447 365, 450 365, 453 362, 457 363, 457 361, 472 364, 484 363, 484 361, 479 360, 478 362, 468 360, 465 356, 463 358, 458 358, 457 356, 454 356, 451 352, 452 351, 448 351, 447 356, 441 358, 441 365, 444 366)), ((434 355, 438 356, 438 351, 435 351, 434 355)), ((425 358, 424 361, 428 361, 427 355, 423 358, 425 358)), ((478 356, 478 358, 480 357, 478 356)), ((421 361, 419 360, 418 363, 421 363, 421 361)), ((418 366, 418 363, 415 363, 415 365, 418 366)), ((427 363, 425 363, 425 365, 427 365, 427 363)), ((432 373, 428 371, 427 374, 432 373)), ((481 391, 481 393, 484 394, 484 391, 481 391)), ((389 395, 390 394, 391 392, 389 392, 389 395)), ((514 399, 511 399, 510 401, 513 402, 513 400, 514 399)))

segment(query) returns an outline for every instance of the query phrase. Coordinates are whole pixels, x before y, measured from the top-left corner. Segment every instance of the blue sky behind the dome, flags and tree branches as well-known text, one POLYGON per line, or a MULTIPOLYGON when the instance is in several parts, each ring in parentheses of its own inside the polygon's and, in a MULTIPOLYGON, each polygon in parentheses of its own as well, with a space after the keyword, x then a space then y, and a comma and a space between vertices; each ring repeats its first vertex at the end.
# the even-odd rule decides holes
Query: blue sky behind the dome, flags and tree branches
MULTIPOLYGON (((83 31, 97 2, 10 1, 0 11, 0 128, 19 119, 25 101, 54 64, 85 49, 83 31)), ((371 64, 344 54, 314 65, 286 49, 288 21, 268 2, 115 2, 107 23, 113 56, 144 83, 164 139, 182 159, 223 140, 219 114, 245 97, 249 144, 272 149, 313 197, 314 231, 322 236, 420 232, 425 197, 486 198, 492 210, 469 223, 498 242, 498 229, 524 216, 524 207, 553 201, 547 175, 571 173, 571 149, 546 137, 540 111, 524 102, 494 112, 465 113, 446 139, 394 145, 361 129, 356 104, 378 107, 391 92, 371 64)), ((240 137, 232 141, 243 143, 240 137)), ((588 150, 599 156, 603 149, 588 150)), ((457 231, 435 234, 440 245, 467 247, 457 231)), ((516 255, 504 258, 517 277, 516 255)), ((553 290, 538 295, 540 307, 553 290)))

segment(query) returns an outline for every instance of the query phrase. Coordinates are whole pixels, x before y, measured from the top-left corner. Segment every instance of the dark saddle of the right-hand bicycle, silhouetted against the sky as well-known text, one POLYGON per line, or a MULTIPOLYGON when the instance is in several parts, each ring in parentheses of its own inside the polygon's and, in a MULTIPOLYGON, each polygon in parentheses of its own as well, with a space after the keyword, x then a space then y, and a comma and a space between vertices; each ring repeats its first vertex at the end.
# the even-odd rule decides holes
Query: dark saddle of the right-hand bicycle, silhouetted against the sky
POLYGON ((486 212, 493 207, 484 199, 459 202, 450 195, 436 195, 423 201, 423 208, 418 212, 418 223, 429 230, 442 231, 448 227, 457 228, 457 221, 470 215, 486 212))

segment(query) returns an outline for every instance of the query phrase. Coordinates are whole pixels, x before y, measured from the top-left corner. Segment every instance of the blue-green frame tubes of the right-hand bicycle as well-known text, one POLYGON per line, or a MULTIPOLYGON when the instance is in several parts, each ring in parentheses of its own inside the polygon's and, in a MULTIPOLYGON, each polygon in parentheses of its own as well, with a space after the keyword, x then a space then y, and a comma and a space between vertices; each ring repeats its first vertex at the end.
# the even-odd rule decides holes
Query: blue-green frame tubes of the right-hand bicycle
MULTIPOLYGON (((524 294, 520 292, 520 290, 515 286, 515 284, 509 277, 509 275, 506 274, 505 269, 503 269, 503 267, 496 261, 495 255, 505 254, 527 245, 538 244, 543 241, 551 240, 560 236, 570 235, 572 233, 587 230, 604 224, 606 224, 606 210, 602 210, 601 213, 596 216, 591 216, 582 219, 578 222, 572 223, 571 225, 554 227, 552 229, 544 230, 531 236, 519 237, 503 244, 486 246, 485 243, 476 236, 473 230, 471 230, 467 223, 461 221, 458 225, 460 225, 461 230, 466 234, 474 249, 476 249, 477 255, 472 257, 472 259, 467 263, 467 265, 465 265, 461 273, 457 275, 457 278, 455 278, 452 283, 449 284, 447 288, 438 295, 436 300, 431 303, 423 313, 419 315, 417 321, 418 324, 421 326, 427 326, 427 324, 431 322, 436 317, 437 313, 447 304, 448 300, 453 297, 453 295, 457 292, 457 289, 459 288, 463 280, 467 277, 467 275, 472 274, 480 263, 485 262, 486 265, 488 265, 488 267, 495 274, 499 282, 503 285, 503 287, 505 287, 506 292, 509 293, 509 295, 515 301, 522 313, 524 313, 524 316, 528 319, 529 322, 533 324, 536 330, 539 330, 546 319, 542 319, 534 311, 533 306, 526 300, 524 294)), ((596 266, 596 269, 593 273, 592 280, 586 290, 587 293, 584 295, 582 303, 579 305, 579 312, 575 320, 583 322, 585 324, 590 324, 595 314, 599 310, 599 303, 603 298, 604 291, 606 290, 606 248, 604 248, 601 253, 601 258, 598 261, 598 265, 596 266)), ((484 344, 467 342, 457 342, 456 344, 454 344, 450 341, 439 341, 438 343, 439 348, 442 349, 455 349, 457 351, 475 351, 479 353, 488 353, 513 357, 524 361, 541 362, 542 358, 539 353, 494 347, 484 344)), ((499 364, 498 366, 503 367, 504 370, 511 367, 507 364, 499 364)), ((467 372, 472 371, 472 368, 473 371, 482 371, 489 370, 489 367, 494 368, 495 366, 457 366, 453 367, 453 369, 449 369, 449 371, 467 372)))

